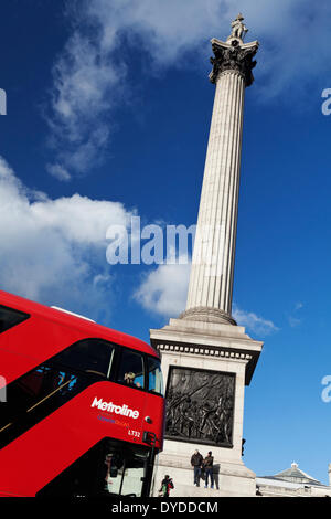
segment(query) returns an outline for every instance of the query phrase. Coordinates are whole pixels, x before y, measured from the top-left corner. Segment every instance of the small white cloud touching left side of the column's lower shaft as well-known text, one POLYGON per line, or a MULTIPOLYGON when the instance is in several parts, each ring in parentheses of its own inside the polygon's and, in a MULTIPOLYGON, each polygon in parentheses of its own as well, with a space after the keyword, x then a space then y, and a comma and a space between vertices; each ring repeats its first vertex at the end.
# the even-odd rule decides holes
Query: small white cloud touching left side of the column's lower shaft
POLYGON ((147 310, 178 317, 185 309, 191 264, 164 264, 147 274, 134 294, 147 310))

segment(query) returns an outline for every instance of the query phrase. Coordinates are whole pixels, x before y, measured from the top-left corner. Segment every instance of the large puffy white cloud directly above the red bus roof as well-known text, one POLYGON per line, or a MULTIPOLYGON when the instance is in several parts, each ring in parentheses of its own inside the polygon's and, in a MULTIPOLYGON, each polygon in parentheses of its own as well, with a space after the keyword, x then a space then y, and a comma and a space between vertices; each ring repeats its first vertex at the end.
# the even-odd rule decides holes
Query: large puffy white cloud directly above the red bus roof
POLYGON ((129 225, 122 204, 28 190, 0 157, 0 286, 97 319, 109 317, 109 224, 129 225))

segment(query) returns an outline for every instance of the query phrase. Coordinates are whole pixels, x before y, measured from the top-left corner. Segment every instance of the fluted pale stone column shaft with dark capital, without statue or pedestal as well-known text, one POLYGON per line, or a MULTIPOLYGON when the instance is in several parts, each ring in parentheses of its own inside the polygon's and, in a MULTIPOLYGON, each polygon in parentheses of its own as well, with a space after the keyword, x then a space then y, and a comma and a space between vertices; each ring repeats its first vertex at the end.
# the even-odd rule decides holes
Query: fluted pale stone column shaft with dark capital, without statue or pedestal
POLYGON ((237 227, 245 86, 253 83, 258 43, 213 39, 212 83, 216 84, 186 319, 235 324, 231 317, 237 227))

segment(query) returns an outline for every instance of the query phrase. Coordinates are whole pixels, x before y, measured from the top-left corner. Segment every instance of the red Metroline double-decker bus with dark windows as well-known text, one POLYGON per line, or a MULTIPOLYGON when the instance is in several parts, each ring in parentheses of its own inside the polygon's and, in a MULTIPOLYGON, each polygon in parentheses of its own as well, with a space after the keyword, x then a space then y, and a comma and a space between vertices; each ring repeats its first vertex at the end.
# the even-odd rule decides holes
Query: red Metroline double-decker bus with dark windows
POLYGON ((153 348, 0 292, 0 496, 148 496, 163 422, 153 348))

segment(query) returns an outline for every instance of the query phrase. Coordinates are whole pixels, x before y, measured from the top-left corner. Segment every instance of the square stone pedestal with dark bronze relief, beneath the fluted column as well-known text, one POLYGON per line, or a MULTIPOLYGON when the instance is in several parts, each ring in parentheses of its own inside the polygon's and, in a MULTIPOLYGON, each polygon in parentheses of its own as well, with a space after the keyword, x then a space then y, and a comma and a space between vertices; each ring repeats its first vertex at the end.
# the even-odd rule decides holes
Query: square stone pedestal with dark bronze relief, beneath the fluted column
POLYGON ((150 339, 161 353, 167 381, 166 442, 154 491, 169 474, 173 496, 254 496, 255 474, 242 460, 244 393, 263 343, 239 326, 184 319, 170 319, 169 326, 150 330, 150 339), (182 380, 174 384, 175 377, 182 380), (193 422, 200 424, 197 434, 193 422), (222 436, 225 428, 227 437, 222 436), (193 486, 190 460, 196 448, 204 457, 213 453, 214 490, 203 488, 203 480, 200 488, 193 486))

